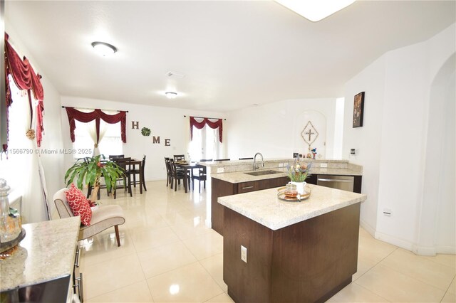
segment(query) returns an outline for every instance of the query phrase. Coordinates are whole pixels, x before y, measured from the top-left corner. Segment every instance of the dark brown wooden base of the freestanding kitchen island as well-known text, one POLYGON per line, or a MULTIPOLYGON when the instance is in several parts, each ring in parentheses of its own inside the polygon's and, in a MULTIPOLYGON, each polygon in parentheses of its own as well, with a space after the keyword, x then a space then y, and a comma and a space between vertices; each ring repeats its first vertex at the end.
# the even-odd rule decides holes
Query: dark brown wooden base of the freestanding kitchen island
POLYGON ((265 303, 331 298, 356 273, 360 204, 278 230, 224 207, 223 280, 229 297, 265 303))

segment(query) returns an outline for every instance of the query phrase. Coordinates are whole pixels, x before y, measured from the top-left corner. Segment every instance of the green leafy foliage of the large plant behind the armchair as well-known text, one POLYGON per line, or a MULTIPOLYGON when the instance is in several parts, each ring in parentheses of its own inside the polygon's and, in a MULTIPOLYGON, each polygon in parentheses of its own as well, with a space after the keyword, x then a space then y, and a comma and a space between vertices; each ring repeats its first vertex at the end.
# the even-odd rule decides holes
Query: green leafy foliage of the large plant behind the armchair
POLYGON ((104 155, 78 159, 76 163, 66 171, 66 185, 70 185, 76 178, 76 187, 79 189, 83 189, 83 184, 93 186, 92 201, 96 201, 98 190, 100 189, 101 177, 105 179, 108 191, 114 191, 117 179, 123 175, 123 169, 114 161, 104 160, 104 155))

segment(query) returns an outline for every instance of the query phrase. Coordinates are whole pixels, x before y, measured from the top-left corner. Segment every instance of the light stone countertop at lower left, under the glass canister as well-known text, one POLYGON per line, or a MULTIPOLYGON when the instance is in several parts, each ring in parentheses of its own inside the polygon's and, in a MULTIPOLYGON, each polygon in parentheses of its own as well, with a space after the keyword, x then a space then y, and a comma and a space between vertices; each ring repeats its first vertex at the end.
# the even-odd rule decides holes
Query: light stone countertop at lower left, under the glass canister
POLYGON ((35 285, 73 273, 79 217, 24 224, 24 240, 0 261, 0 291, 35 285))

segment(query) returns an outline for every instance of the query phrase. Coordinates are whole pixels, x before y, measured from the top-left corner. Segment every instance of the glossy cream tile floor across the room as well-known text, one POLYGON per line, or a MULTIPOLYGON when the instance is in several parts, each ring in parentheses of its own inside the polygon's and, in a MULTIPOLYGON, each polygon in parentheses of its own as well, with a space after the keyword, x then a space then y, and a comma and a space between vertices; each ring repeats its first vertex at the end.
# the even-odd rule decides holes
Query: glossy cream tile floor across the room
MULTIPOLYGON (((165 181, 134 191, 101 199, 125 211, 120 248, 113 228, 81 241, 86 302, 232 302, 222 236, 204 225, 205 192, 175 192, 165 181)), ((455 255, 417 256, 360 228, 358 272, 328 302, 456 302, 455 275, 455 255)))

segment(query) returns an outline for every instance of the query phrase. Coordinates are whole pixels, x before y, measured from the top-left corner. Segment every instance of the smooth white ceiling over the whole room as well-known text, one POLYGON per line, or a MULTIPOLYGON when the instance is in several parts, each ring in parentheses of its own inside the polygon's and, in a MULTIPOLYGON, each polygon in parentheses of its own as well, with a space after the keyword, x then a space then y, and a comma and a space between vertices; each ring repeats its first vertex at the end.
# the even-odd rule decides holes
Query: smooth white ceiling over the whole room
POLYGON ((225 112, 341 97, 383 53, 454 23, 455 3, 356 1, 314 23, 274 1, 6 1, 5 20, 61 95, 225 112))

